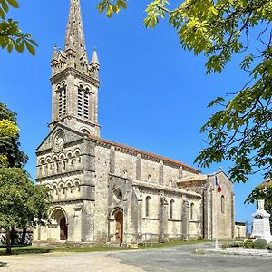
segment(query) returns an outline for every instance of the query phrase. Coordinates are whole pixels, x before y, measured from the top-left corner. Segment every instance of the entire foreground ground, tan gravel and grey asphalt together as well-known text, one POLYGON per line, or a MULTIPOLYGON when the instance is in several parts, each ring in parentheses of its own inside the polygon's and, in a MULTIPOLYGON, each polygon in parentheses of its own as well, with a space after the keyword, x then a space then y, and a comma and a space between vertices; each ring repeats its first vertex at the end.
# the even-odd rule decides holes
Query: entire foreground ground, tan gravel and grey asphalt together
POLYGON ((0 257, 0 272, 267 272, 271 257, 199 255, 211 244, 121 252, 49 253, 0 257), (2 267, 2 264, 5 264, 2 267))

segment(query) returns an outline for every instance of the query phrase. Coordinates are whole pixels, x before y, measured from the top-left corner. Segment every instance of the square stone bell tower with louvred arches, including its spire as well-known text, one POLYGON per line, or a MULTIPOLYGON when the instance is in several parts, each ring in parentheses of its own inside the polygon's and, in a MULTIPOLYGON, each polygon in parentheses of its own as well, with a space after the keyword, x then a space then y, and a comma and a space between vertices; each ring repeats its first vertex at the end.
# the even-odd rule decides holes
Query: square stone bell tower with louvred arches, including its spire
POLYGON ((71 0, 63 51, 53 49, 52 121, 50 129, 61 122, 76 131, 100 136, 98 88, 100 63, 92 53, 88 63, 80 1, 71 0))

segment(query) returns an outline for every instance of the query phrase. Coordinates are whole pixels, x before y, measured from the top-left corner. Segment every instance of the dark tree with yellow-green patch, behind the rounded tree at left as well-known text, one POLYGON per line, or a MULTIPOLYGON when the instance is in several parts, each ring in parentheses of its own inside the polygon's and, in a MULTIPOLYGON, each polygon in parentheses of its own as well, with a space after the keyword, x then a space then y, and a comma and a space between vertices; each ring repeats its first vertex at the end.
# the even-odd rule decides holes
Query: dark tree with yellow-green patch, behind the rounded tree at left
POLYGON ((16 113, 0 102, 0 167, 23 168, 27 156, 20 150, 16 113))

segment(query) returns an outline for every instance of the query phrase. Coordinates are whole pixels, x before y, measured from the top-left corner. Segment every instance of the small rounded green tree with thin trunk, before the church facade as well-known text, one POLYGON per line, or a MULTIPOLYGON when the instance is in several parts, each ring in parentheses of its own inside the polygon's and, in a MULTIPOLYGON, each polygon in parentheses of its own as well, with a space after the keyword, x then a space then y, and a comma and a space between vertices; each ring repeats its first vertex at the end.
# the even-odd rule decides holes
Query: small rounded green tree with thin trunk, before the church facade
POLYGON ((20 168, 0 168, 0 228, 6 231, 6 253, 11 254, 11 229, 44 224, 51 206, 48 189, 35 186, 20 168))

